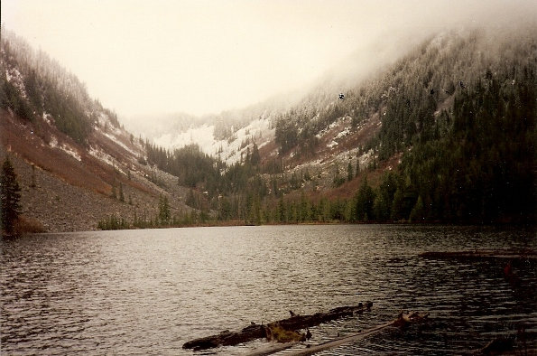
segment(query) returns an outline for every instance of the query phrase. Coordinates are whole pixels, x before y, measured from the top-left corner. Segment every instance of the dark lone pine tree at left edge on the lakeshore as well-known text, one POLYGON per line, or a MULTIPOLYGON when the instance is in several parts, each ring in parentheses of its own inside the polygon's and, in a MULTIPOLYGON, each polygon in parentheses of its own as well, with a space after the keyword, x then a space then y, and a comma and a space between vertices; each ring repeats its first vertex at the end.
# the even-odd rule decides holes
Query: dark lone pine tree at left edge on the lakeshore
POLYGON ((0 173, 0 188, 2 197, 2 230, 5 234, 12 234, 14 221, 18 219, 21 212, 21 188, 17 182, 17 175, 9 158, 5 158, 0 173))

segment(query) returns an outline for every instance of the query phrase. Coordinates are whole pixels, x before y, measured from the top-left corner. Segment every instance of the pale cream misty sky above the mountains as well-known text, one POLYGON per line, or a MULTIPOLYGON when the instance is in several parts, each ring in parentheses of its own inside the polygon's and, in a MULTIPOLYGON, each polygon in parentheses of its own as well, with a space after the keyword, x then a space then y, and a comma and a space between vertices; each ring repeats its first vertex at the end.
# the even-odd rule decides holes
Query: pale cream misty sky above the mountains
POLYGON ((2 0, 2 23, 121 116, 216 113, 301 88, 390 33, 535 14, 518 1, 2 0))

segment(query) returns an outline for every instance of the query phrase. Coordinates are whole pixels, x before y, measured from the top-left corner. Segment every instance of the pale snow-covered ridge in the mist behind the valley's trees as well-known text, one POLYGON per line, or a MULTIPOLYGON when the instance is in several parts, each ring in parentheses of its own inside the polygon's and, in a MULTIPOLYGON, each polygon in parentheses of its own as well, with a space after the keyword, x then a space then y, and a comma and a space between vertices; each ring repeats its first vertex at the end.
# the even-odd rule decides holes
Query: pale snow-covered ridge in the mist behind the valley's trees
POLYGON ((246 154, 246 143, 253 143, 254 136, 257 136, 257 140, 265 136, 258 145, 273 138, 273 124, 277 117, 290 110, 316 110, 314 107, 329 105, 338 97, 338 93, 356 88, 356 84, 395 61, 423 38, 424 35, 392 33, 383 39, 382 45, 366 45, 345 60, 335 62, 331 70, 312 79, 309 86, 287 92, 282 90, 282 94, 247 108, 204 117, 192 117, 183 113, 145 115, 133 120, 138 124, 131 127, 158 145, 174 149, 198 144, 208 155, 218 156, 227 164, 233 164, 240 160, 241 154, 246 154), (166 125, 144 125, 144 122, 153 123, 157 117, 158 122, 164 121, 166 125))

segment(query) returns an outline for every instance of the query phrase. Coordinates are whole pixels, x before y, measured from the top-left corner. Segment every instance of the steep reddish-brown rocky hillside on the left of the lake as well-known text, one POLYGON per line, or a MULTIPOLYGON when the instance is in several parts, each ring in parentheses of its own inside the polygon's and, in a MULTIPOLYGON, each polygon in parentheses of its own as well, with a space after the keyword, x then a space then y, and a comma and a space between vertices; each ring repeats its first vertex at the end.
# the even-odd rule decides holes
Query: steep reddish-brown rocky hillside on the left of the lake
POLYGON ((190 211, 177 178, 144 163, 144 145, 45 53, 2 33, 0 156, 22 186, 23 219, 44 230, 95 230, 112 214, 153 219, 159 198, 190 211), (141 164, 142 162, 142 164, 141 164))

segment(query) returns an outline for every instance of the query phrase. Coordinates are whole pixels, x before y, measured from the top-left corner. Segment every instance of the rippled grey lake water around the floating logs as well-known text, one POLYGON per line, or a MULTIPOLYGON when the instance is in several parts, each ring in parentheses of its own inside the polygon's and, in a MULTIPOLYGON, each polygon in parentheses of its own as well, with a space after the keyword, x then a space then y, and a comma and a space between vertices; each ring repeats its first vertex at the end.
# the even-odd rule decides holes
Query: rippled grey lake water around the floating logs
MULTIPOLYGON (((453 354, 524 328, 535 347, 537 267, 426 259, 433 250, 536 248, 532 231, 308 225, 45 234, 2 241, 2 354, 200 354, 190 339, 341 305, 371 312, 310 329, 309 343, 392 320, 322 354, 453 354)), ((243 354, 261 340, 205 353, 243 354)), ((303 347, 303 345, 301 345, 303 347)), ((284 353, 284 352, 283 352, 284 353)))

